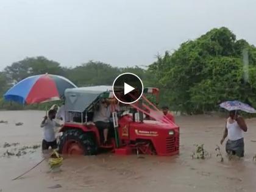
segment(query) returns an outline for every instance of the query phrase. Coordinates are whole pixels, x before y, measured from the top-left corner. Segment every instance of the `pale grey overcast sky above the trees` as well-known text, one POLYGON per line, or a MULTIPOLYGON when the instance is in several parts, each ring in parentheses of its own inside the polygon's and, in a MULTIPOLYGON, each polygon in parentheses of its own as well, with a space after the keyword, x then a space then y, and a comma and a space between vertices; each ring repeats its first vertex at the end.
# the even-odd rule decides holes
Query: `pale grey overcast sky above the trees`
POLYGON ((63 66, 149 65, 213 27, 256 44, 254 0, 0 0, 0 69, 43 55, 63 66))

